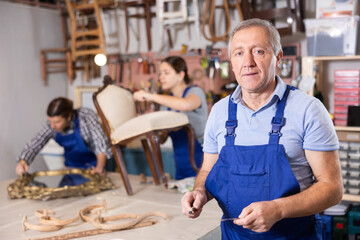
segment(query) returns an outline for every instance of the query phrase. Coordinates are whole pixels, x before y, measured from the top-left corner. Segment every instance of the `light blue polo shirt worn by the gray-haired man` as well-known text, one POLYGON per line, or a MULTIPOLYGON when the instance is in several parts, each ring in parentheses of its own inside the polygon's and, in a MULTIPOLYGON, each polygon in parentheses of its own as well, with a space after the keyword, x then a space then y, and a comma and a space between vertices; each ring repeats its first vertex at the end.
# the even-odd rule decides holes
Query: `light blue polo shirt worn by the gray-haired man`
MULTIPOLYGON (((238 127, 235 145, 263 145, 269 142, 271 120, 276 104, 284 95, 286 84, 277 76, 277 85, 271 99, 257 111, 249 109, 241 98, 241 87, 232 94, 231 101, 238 103, 238 127)), ((220 153, 225 145, 225 122, 228 118, 229 96, 218 101, 211 109, 206 123, 203 151, 220 153)), ((284 145, 290 166, 301 190, 313 184, 313 174, 305 158, 304 149, 331 151, 339 149, 339 142, 330 115, 316 98, 300 90, 290 91, 282 127, 280 144, 284 145)))

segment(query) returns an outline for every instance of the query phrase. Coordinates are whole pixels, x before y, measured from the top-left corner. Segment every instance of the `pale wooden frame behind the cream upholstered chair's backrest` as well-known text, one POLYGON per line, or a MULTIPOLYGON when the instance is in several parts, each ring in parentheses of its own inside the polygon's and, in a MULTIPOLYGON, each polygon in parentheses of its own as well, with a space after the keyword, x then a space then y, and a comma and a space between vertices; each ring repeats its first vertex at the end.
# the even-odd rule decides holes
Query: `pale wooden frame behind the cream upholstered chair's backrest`
POLYGON ((94 92, 97 92, 99 90, 99 88, 99 86, 75 87, 75 108, 86 107, 90 108, 94 112, 97 112, 92 96, 94 92))

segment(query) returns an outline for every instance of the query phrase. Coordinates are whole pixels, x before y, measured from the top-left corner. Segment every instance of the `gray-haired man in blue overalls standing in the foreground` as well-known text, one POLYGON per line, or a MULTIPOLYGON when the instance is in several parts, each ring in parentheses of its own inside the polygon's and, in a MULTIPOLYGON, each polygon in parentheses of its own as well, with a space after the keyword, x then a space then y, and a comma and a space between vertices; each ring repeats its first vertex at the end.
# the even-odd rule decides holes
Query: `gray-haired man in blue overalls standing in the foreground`
POLYGON ((214 197, 222 239, 318 239, 316 214, 343 193, 329 114, 276 75, 280 36, 268 21, 241 22, 228 50, 239 86, 211 110, 203 166, 183 213, 198 217, 214 197))

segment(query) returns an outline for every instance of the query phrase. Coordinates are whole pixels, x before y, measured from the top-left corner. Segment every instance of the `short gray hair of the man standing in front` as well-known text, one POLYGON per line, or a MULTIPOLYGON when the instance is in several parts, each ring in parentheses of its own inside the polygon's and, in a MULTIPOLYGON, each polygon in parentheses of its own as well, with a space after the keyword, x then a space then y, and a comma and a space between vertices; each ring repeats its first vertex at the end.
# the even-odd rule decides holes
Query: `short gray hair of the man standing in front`
POLYGON ((271 44, 271 47, 273 49, 274 54, 277 56, 279 52, 281 51, 281 43, 280 43, 280 34, 278 30, 267 20, 262 20, 258 18, 251 18, 249 20, 245 20, 240 22, 231 32, 230 39, 228 43, 228 55, 229 58, 231 58, 231 42, 232 39, 238 31, 249 28, 249 27, 262 27, 264 28, 269 36, 269 41, 271 44))

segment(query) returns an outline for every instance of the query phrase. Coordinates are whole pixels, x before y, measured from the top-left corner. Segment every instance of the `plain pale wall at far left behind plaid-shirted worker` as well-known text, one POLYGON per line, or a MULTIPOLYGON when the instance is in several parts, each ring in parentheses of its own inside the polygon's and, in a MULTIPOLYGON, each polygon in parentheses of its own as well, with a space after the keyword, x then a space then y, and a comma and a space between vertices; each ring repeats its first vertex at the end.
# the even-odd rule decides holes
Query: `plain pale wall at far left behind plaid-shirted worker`
MULTIPOLYGON (((62 47, 59 13, 0 2, 0 180, 14 178, 16 157, 46 120, 47 104, 67 95, 64 74, 43 85, 40 50, 62 47)), ((42 169, 42 158, 31 166, 42 169)))

